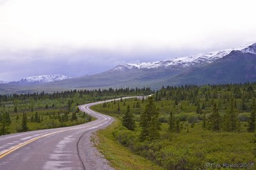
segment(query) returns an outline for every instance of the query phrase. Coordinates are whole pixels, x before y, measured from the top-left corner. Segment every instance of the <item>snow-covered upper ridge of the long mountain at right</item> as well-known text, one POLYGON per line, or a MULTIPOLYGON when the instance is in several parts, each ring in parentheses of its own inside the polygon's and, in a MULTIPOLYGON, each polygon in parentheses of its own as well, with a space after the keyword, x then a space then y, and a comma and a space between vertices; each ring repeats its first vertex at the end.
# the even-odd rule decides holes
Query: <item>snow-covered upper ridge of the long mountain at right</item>
POLYGON ((231 48, 227 50, 220 50, 216 52, 206 52, 198 53, 196 55, 190 55, 188 57, 180 57, 171 60, 156 61, 156 62, 139 62, 135 64, 122 64, 113 68, 117 71, 128 71, 133 69, 156 69, 160 67, 170 67, 170 66, 179 66, 179 67, 189 67, 196 66, 198 64, 206 64, 214 62, 215 60, 221 59, 228 55, 230 52, 238 50, 243 53, 253 53, 256 54, 256 41, 248 43, 244 46, 239 46, 237 48, 231 48))

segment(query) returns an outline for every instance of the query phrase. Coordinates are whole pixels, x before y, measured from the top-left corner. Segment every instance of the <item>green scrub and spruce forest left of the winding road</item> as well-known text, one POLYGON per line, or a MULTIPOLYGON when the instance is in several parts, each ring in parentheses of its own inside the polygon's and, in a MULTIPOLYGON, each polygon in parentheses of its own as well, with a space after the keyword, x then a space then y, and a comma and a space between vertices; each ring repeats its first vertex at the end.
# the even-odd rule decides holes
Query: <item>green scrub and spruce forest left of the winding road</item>
POLYGON ((93 118, 77 106, 122 96, 151 94, 143 89, 70 90, 55 93, 0 95, 0 135, 66 127, 90 122, 93 118))

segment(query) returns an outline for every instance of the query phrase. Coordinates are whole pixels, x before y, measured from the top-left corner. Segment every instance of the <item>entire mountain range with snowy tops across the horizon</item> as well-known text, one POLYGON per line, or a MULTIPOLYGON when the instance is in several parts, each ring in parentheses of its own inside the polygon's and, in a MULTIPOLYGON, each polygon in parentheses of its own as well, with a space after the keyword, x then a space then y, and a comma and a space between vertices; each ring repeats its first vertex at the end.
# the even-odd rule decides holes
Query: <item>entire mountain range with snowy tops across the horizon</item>
MULTIPOLYGON (((60 75, 59 75, 60 76, 60 75)), ((47 76, 48 77, 48 76, 47 76)), ((103 73, 63 78, 26 78, 0 84, 0 92, 54 92, 70 89, 151 87, 163 85, 243 83, 256 81, 256 42, 237 48, 177 59, 121 64, 103 73), (49 81, 46 81, 49 80, 49 81), (32 83, 31 83, 32 82, 32 83), (43 83, 43 84, 42 84, 43 83)))

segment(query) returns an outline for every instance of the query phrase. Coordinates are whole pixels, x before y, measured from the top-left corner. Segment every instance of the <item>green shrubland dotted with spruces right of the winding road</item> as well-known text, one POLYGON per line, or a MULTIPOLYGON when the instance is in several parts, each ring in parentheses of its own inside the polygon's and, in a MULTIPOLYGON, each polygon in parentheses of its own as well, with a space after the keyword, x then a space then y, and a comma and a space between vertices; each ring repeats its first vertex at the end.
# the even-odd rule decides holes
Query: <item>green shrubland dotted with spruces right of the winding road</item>
POLYGON ((112 143, 164 169, 255 169, 255 90, 256 83, 162 87, 93 110, 120 122, 112 143))

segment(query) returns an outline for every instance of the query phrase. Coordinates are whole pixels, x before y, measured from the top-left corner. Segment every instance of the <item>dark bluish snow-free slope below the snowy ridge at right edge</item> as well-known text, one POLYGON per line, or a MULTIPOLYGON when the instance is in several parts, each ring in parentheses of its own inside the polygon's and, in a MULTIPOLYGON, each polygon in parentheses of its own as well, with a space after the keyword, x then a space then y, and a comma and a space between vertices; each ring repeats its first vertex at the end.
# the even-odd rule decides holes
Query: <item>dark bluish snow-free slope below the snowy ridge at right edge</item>
POLYGON ((225 57, 202 67, 193 67, 166 84, 218 84, 256 81, 256 54, 232 51, 225 57))

